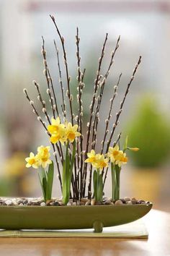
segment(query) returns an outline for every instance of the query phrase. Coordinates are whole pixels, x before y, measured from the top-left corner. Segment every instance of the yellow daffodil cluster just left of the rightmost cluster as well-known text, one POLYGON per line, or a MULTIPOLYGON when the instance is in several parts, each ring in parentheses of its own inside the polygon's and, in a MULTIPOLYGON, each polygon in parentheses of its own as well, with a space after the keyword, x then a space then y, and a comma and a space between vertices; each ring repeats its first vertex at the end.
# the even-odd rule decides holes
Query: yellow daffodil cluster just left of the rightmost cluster
POLYGON ((96 154, 94 150, 91 150, 90 153, 87 153, 87 156, 85 163, 91 163, 94 168, 101 170, 108 166, 109 159, 104 158, 103 154, 96 154))

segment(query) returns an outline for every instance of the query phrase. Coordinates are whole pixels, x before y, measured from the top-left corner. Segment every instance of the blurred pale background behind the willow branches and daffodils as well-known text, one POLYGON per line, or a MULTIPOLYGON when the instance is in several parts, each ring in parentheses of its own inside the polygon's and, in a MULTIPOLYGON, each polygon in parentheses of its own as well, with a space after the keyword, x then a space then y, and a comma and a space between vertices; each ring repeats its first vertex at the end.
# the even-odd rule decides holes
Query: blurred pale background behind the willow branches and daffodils
MULTIPOLYGON (((140 148, 138 153, 129 154, 130 162, 122 169, 121 195, 150 200, 155 208, 170 210, 170 1, 161 0, 0 0, 0 196, 41 195, 37 172, 24 167, 24 158, 30 151, 35 152, 38 145, 49 142, 22 91, 27 88, 36 105, 37 95, 32 85, 32 80, 36 80, 42 95, 47 98, 40 52, 42 35, 53 80, 56 88, 59 86, 53 39, 60 53, 61 43, 49 14, 55 16, 66 40, 73 95, 76 95, 77 86, 75 35, 79 27, 81 67, 86 67, 84 123, 88 121, 89 96, 105 33, 109 33, 109 39, 102 74, 107 70, 110 52, 121 35, 101 109, 103 115, 109 110, 113 86, 122 72, 112 123, 138 56, 142 56, 115 132, 115 140, 122 132, 121 144, 128 135, 129 145, 140 148)), ((63 63, 61 71, 64 72, 63 63)), ((74 103, 76 112, 76 101, 74 103)), ((103 115, 98 138, 103 136, 103 115)), ((86 126, 84 130, 86 133, 86 126)), ((99 148, 100 140, 98 142, 99 148)), ((107 183, 110 182, 108 177, 107 183)), ((59 190, 57 182, 55 187, 59 190)), ((53 195, 56 196, 56 191, 53 195)), ((109 189, 106 195, 111 195, 109 189)))

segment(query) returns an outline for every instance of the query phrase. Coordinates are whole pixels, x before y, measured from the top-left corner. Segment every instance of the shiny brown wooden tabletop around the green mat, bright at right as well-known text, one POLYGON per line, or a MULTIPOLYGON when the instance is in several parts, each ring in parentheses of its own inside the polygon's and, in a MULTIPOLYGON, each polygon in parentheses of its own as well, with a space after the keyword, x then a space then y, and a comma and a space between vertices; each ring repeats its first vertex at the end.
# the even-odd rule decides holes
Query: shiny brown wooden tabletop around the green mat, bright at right
POLYGON ((0 238, 1 256, 170 256, 170 214, 151 210, 143 217, 148 239, 0 238))

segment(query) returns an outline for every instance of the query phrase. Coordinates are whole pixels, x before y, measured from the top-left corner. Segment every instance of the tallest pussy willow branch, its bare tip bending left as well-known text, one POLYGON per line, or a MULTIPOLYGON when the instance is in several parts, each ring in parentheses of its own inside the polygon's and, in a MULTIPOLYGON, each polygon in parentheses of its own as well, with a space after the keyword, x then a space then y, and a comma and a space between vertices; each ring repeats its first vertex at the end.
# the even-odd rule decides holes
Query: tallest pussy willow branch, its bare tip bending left
POLYGON ((71 123, 73 125, 73 108, 72 108, 72 101, 73 101, 73 95, 71 95, 71 90, 70 90, 70 81, 71 81, 71 77, 68 74, 68 62, 67 62, 67 56, 66 56, 66 49, 65 49, 65 44, 64 44, 64 38, 60 33, 60 30, 58 30, 58 26, 55 22, 55 17, 53 17, 52 15, 50 15, 51 20, 53 20, 53 23, 55 25, 55 28, 57 30, 57 33, 59 35, 59 38, 61 39, 61 45, 63 48, 63 59, 64 59, 64 65, 66 67, 66 79, 67 79, 67 96, 68 96, 68 101, 69 101, 69 105, 70 105, 70 111, 71 111, 71 123))

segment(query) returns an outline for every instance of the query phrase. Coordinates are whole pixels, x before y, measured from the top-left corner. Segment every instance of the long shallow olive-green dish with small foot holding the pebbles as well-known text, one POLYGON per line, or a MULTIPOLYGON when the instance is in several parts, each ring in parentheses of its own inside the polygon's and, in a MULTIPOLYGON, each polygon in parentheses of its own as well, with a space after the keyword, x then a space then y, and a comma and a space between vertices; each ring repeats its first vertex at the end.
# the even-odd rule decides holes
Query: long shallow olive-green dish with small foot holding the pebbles
POLYGON ((152 208, 146 205, 0 206, 0 229, 90 229, 138 220, 152 208))

